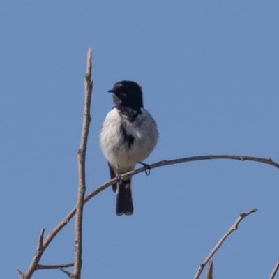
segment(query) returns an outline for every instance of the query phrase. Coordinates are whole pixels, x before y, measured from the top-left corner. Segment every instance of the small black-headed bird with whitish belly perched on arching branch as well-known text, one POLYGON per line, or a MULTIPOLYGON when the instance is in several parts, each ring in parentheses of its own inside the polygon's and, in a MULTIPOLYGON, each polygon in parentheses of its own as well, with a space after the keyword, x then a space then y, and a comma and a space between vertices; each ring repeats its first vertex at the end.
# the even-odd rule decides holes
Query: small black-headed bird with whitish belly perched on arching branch
POLYGON ((158 142, 158 126, 144 109, 142 87, 137 82, 116 82, 108 92, 113 94, 114 107, 100 130, 100 149, 107 159, 110 178, 117 178, 112 185, 116 192, 116 215, 130 216, 134 211, 131 178, 122 179, 121 174, 133 171, 137 163, 150 172, 150 166, 142 161, 158 142))

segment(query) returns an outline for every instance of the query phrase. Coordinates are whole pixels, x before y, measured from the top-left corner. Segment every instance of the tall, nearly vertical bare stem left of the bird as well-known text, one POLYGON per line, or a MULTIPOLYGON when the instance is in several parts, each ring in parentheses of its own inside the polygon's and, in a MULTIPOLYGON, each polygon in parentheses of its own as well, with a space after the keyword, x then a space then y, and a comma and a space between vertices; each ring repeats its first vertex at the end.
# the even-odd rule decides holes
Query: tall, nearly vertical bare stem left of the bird
POLYGON ((82 214, 84 206, 84 195, 86 190, 85 185, 85 158, 87 139, 89 134, 89 126, 91 122, 90 106, 91 106, 91 94, 93 81, 91 80, 91 69, 92 69, 92 51, 89 48, 87 53, 87 68, 84 77, 84 116, 82 124, 82 138, 80 140, 80 148, 77 152, 77 165, 78 165, 78 176, 79 185, 77 190, 77 210, 75 215, 75 265, 73 271, 73 278, 80 279, 82 272, 82 214))

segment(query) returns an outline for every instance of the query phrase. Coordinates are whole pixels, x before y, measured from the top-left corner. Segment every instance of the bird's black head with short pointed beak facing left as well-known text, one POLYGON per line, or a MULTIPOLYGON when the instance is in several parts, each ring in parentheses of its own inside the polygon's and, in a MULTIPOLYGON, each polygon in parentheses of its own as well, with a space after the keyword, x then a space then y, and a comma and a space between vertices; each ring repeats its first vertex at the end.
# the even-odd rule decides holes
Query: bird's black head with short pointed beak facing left
POLYGON ((142 87, 137 82, 130 80, 116 82, 113 89, 108 92, 114 93, 113 100, 116 107, 129 107, 137 112, 140 111, 141 107, 144 107, 142 87))

